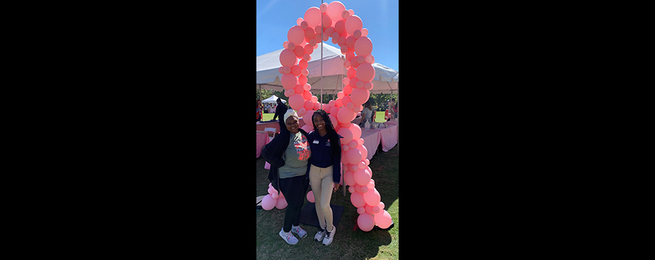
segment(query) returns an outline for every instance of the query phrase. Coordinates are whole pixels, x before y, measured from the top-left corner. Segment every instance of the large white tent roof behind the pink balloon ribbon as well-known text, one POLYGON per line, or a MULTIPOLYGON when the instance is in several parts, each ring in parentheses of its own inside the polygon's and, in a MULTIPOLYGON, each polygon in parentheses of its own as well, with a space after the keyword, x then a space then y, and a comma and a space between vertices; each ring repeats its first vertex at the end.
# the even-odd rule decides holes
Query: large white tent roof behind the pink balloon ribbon
MULTIPOLYGON (((257 89, 270 89, 283 91, 278 71, 280 68, 280 53, 284 48, 277 51, 257 56, 257 89)), ((373 51, 375 53, 375 49, 373 51)), ((375 56, 375 55, 374 55, 375 56)), ((311 91, 315 96, 323 89, 341 91, 342 79, 346 75, 344 69, 344 56, 341 50, 330 44, 323 44, 323 82, 320 80, 320 45, 311 53, 311 61, 308 63, 307 83, 311 85, 311 91), (323 86, 321 86, 323 84, 323 86)), ((380 63, 373 63, 375 77, 373 78, 373 89, 371 93, 398 93, 398 71, 393 70, 380 63)))

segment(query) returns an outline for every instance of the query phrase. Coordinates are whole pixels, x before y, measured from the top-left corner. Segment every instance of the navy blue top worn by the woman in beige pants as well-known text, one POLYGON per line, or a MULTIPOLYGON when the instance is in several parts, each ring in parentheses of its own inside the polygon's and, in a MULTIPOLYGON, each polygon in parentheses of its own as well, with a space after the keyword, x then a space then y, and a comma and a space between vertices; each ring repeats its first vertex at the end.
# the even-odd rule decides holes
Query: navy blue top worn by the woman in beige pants
POLYGON ((341 182, 341 138, 339 136, 339 143, 334 144, 330 143, 330 137, 326 134, 325 136, 320 136, 318 131, 311 131, 308 134, 307 140, 309 141, 309 147, 311 148, 311 157, 309 157, 309 164, 312 164, 316 167, 330 167, 332 165, 332 181, 335 183, 341 182), (314 143, 318 141, 318 143, 314 143), (337 145, 339 148, 339 153, 335 156, 332 155, 332 145, 337 145))

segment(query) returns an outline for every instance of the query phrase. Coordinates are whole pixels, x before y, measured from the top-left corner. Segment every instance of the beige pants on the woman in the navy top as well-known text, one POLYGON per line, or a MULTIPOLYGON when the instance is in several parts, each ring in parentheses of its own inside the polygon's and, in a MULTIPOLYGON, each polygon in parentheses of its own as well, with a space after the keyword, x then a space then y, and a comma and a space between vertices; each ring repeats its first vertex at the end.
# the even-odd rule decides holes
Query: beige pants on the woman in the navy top
POLYGON ((309 185, 314 193, 316 200, 316 214, 320 228, 328 231, 334 230, 332 226, 332 208, 330 199, 332 199, 332 189, 335 188, 335 182, 332 181, 332 166, 320 168, 311 165, 309 168, 309 185))

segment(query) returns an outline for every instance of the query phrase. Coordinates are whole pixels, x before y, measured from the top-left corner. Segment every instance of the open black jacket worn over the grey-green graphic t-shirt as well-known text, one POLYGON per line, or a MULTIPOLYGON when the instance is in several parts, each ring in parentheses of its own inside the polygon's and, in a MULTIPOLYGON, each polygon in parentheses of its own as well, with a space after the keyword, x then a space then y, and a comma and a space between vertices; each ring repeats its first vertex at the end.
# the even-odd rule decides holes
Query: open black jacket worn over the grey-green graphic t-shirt
MULTIPOLYGON (((308 134, 303 129, 298 129, 307 140, 308 134)), ((280 193, 280 172, 278 169, 285 166, 285 160, 282 160, 282 154, 287 150, 289 145, 289 138, 291 138, 291 132, 289 130, 280 129, 280 134, 277 134, 270 143, 264 145, 264 148, 261 149, 261 157, 270 164, 270 171, 268 171, 268 180, 270 181, 273 188, 277 190, 277 193, 280 193)), ((309 167, 311 164, 307 162, 307 171, 305 172, 305 178, 309 178, 309 167)))

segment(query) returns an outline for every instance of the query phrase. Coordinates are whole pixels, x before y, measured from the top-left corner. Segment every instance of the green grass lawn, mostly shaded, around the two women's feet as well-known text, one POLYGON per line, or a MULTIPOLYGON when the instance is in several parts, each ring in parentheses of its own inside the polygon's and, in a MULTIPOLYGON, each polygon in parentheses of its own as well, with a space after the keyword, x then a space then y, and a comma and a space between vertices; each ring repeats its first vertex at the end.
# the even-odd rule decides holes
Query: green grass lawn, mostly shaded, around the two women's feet
MULTIPOLYGON (((382 112, 379 112, 382 113, 382 112)), ((377 115, 380 118, 380 115, 377 115)), ((266 114, 264 114, 266 118, 266 114)), ((273 114, 271 114, 271 119, 273 114)), ((382 115, 384 118, 384 115, 382 115)), ((257 158, 256 195, 268 194, 268 170, 264 169, 262 157, 257 158)), ((332 244, 325 246, 313 241, 318 228, 301 223, 307 231, 307 237, 299 239, 296 245, 288 245, 282 240, 278 232, 282 228, 286 209, 257 210, 257 259, 398 259, 398 145, 389 152, 382 152, 370 160, 370 169, 373 170, 375 188, 380 193, 380 199, 385 202, 385 209, 392 216, 394 227, 389 230, 373 228, 369 232, 360 229, 353 230, 357 221, 357 209, 350 202, 350 193, 343 187, 332 193, 331 203, 344 207, 344 212, 337 226, 337 233, 332 244)), ((311 190, 308 188, 307 192, 311 190)), ((305 199, 305 203, 307 203, 305 199)))

